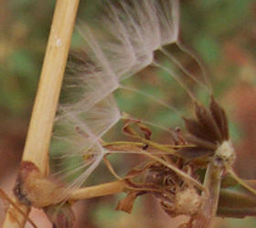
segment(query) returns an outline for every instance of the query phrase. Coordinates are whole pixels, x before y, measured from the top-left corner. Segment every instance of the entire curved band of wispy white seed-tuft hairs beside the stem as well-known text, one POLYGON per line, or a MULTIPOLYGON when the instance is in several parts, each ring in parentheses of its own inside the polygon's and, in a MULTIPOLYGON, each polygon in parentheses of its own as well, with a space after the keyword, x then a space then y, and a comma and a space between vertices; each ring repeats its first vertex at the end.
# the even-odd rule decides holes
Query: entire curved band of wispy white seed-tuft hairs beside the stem
POLYGON ((112 92, 152 64, 155 50, 178 39, 178 0, 107 1, 103 6, 97 26, 80 23, 85 44, 82 55, 69 57, 53 134, 54 145, 62 145, 57 159, 67 161, 65 178, 79 173, 70 188, 98 166, 105 154, 101 137, 122 117, 112 92))

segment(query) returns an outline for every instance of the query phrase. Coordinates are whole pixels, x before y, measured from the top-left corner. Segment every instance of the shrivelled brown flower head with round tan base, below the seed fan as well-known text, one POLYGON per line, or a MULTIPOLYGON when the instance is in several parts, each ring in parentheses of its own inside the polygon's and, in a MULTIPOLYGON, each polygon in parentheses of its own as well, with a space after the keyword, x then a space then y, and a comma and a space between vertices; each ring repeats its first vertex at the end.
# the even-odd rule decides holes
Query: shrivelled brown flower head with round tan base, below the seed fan
MULTIPOLYGON (((190 165, 181 165, 180 161, 178 163, 181 171, 187 171, 190 176, 198 179, 195 169, 190 165)), ((164 188, 164 191, 154 192, 154 195, 170 216, 176 217, 181 214, 192 216, 199 211, 202 202, 200 192, 188 181, 180 178, 176 172, 155 164, 150 168, 146 180, 164 188)))

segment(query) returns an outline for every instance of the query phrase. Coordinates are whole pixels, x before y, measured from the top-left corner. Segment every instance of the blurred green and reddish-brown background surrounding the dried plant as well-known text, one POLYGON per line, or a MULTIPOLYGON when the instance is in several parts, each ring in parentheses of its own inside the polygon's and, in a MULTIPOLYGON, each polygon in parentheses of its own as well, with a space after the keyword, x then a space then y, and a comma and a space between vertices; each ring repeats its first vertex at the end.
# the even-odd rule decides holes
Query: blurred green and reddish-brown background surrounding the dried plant
MULTIPOLYGON (((94 3, 81 0, 79 18, 86 10, 92 10, 94 3)), ((1 1, 0 183, 3 188, 15 175, 21 158, 54 5, 52 0, 1 1)), ((230 133, 238 153, 236 171, 246 179, 256 178, 255 21, 256 2, 252 0, 181 1, 181 38, 208 67, 215 95, 228 112, 230 133)), ((74 31, 72 47, 79 46, 80 38, 74 31)), ((134 80, 146 89, 143 79, 134 80)), ((155 228, 170 227, 172 223, 151 196, 137 201, 132 215, 113 211, 116 202, 115 197, 106 197, 80 203, 84 211, 78 209, 81 216, 78 215, 77 227, 155 228)), ((253 218, 218 220, 216 224, 216 227, 255 226, 253 218)))

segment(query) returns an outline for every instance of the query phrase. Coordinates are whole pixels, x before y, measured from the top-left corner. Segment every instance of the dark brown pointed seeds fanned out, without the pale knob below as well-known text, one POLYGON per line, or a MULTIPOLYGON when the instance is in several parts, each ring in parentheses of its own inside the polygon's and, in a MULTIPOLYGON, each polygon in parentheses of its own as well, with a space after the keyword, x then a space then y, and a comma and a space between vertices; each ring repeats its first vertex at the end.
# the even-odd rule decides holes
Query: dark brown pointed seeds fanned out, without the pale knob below
POLYGON ((212 97, 209 109, 195 102, 196 119, 184 118, 187 134, 185 139, 195 146, 178 150, 187 160, 208 161, 219 145, 229 140, 228 120, 225 111, 212 97))

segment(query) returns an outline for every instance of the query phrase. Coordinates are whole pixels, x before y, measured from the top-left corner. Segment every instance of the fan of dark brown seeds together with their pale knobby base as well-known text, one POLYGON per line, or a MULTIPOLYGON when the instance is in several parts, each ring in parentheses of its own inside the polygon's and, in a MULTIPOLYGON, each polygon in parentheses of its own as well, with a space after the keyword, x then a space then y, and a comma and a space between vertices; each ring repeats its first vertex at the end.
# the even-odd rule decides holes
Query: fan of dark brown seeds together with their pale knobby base
POLYGON ((228 120, 225 111, 214 98, 209 109, 195 103, 196 119, 186 119, 185 139, 193 147, 182 148, 178 153, 188 161, 205 164, 215 161, 216 165, 232 165, 235 161, 234 149, 229 140, 228 120))

